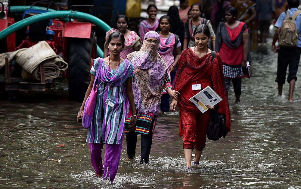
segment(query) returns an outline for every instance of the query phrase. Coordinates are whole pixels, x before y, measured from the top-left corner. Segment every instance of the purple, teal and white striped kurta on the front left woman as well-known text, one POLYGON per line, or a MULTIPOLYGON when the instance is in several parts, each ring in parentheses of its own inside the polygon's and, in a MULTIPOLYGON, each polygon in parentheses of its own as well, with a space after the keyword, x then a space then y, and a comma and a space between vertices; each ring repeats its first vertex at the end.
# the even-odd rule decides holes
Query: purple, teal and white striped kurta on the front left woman
MULTIPOLYGON (((109 83, 102 82, 100 79, 98 85, 98 94, 96 98, 96 107, 93 117, 93 124, 88 130, 87 142, 88 143, 105 143, 105 144, 121 144, 123 139, 125 119, 128 111, 128 99, 126 96, 126 79, 134 76, 133 65, 128 63, 128 60, 124 60, 120 67, 129 66, 126 74, 122 76, 115 73, 116 70, 110 70, 106 63, 100 65, 100 68, 108 72, 108 75, 112 77, 114 74, 116 77, 122 77, 119 80, 117 86, 109 85, 109 83), (127 64, 125 63, 127 62, 127 64), (116 102, 113 107, 105 104, 107 98, 116 102)), ((96 75, 99 67, 97 59, 91 68, 90 73, 96 75)), ((119 69, 118 68, 118 69, 119 69)))

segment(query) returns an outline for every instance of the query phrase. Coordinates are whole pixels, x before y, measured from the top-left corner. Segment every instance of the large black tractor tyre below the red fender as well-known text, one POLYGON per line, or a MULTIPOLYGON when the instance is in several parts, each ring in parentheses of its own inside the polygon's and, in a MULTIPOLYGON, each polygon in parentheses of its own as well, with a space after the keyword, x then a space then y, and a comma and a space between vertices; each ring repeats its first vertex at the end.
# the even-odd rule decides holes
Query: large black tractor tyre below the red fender
POLYGON ((69 99, 83 101, 90 83, 91 39, 74 38, 69 51, 69 99))

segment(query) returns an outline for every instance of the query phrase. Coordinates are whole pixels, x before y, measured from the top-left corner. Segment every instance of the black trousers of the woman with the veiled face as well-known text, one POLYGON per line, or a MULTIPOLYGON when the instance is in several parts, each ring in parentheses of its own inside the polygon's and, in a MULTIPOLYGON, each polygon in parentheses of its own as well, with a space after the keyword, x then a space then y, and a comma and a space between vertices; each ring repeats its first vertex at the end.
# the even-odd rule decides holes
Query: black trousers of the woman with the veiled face
MULTIPOLYGON (((144 162, 148 164, 149 161, 149 155, 151 152, 151 145, 153 142, 153 127, 154 127, 154 119, 151 123, 151 128, 149 133, 141 134, 141 158, 140 163, 144 162)), ((135 131, 131 131, 126 134, 126 153, 128 155, 129 159, 132 159, 135 157, 136 154, 136 145, 137 145, 137 135, 135 131)))

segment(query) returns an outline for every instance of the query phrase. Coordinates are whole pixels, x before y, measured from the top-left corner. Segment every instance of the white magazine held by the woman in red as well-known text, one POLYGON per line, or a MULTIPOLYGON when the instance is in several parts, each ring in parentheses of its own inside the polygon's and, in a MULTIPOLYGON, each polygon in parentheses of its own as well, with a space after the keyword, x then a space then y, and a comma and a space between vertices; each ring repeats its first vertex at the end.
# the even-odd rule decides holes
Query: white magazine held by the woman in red
POLYGON ((211 87, 207 86, 189 100, 193 102, 202 113, 204 113, 208 110, 206 107, 207 104, 212 107, 222 101, 222 98, 220 98, 211 87))

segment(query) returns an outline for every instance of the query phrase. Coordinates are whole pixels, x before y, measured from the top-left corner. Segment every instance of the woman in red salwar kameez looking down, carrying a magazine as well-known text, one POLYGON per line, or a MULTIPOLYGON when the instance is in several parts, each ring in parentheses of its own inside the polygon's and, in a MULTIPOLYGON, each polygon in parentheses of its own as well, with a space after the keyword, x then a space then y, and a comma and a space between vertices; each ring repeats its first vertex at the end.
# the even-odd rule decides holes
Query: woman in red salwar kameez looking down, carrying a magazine
MULTIPOLYGON (((222 59, 219 53, 212 59, 211 50, 207 47, 210 38, 208 26, 198 25, 194 30, 196 46, 183 50, 178 61, 175 89, 180 92, 178 101, 173 99, 170 109, 179 107, 179 136, 183 136, 183 149, 186 161, 185 170, 191 169, 192 151, 195 148, 194 164, 199 164, 200 156, 206 143, 206 128, 209 125, 211 110, 226 117, 226 127, 230 131, 231 113, 225 91, 222 59), (201 113, 189 98, 203 88, 210 86, 223 99, 216 107, 209 107, 201 113)), ((214 52, 213 52, 214 54, 214 52)))

